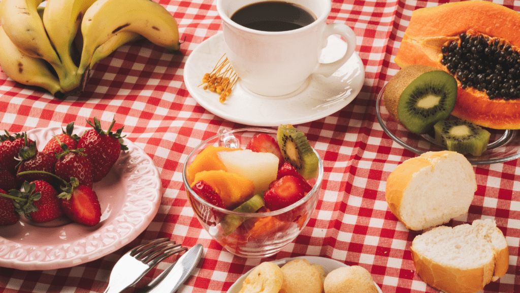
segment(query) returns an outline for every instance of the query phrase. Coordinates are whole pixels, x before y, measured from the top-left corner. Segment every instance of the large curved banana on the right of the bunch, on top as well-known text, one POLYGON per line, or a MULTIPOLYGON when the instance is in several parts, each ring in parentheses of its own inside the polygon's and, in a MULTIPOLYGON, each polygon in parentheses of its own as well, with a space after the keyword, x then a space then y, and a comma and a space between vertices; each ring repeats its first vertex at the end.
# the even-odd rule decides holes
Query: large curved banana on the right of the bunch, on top
POLYGON ((96 49, 124 31, 138 33, 168 50, 179 49, 177 22, 161 4, 152 0, 98 0, 87 9, 81 23, 83 48, 78 74, 84 81, 96 49))

